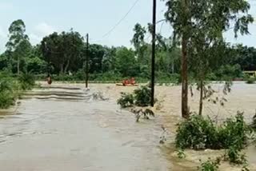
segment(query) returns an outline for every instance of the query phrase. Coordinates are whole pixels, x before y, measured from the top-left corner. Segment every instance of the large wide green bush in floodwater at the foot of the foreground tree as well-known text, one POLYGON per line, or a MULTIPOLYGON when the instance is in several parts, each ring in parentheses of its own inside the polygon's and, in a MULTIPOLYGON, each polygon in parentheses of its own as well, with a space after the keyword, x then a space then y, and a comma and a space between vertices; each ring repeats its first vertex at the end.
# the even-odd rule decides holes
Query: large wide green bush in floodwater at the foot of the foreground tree
POLYGON ((242 113, 219 127, 209 117, 193 115, 178 125, 175 143, 179 149, 242 149, 251 131, 242 113))

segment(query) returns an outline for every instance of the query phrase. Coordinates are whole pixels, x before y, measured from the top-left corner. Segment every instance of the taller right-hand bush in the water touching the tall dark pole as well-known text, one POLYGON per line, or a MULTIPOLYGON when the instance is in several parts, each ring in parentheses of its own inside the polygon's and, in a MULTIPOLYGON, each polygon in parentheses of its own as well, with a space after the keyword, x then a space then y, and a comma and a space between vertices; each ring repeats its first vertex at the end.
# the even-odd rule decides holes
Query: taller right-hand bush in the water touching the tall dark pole
POLYGON ((135 105, 148 106, 150 105, 151 91, 148 86, 142 86, 134 90, 135 105))

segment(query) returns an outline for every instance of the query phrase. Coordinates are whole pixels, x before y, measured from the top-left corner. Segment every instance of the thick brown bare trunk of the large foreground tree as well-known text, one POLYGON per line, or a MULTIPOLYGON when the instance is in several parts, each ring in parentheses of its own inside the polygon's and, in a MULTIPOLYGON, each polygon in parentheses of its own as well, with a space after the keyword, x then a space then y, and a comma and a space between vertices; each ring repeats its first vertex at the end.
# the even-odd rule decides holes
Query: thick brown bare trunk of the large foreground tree
POLYGON ((188 77, 187 77, 187 39, 182 36, 182 117, 190 117, 188 109, 188 77))

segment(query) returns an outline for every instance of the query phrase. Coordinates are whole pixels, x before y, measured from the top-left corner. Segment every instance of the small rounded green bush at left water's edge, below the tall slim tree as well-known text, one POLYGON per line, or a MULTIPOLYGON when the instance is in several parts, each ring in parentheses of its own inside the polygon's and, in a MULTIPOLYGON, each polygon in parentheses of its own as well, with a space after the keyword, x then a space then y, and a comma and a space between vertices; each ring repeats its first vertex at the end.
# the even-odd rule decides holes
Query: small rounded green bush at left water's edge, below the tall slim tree
POLYGON ((33 86, 35 85, 34 75, 30 73, 22 73, 18 77, 18 82, 20 83, 22 89, 24 90, 32 89, 33 86))

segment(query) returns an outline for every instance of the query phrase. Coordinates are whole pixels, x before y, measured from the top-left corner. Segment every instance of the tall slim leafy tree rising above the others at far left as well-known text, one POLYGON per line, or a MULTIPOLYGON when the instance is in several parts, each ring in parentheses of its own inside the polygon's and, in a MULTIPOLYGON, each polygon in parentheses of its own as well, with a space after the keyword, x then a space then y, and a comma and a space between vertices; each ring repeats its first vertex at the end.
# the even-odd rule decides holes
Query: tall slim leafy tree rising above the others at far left
POLYGON ((22 20, 16 20, 9 27, 9 41, 6 43, 7 51, 17 62, 17 73, 20 73, 20 62, 30 50, 30 42, 25 34, 26 26, 22 20))

